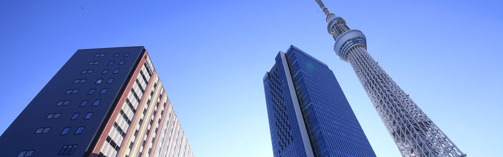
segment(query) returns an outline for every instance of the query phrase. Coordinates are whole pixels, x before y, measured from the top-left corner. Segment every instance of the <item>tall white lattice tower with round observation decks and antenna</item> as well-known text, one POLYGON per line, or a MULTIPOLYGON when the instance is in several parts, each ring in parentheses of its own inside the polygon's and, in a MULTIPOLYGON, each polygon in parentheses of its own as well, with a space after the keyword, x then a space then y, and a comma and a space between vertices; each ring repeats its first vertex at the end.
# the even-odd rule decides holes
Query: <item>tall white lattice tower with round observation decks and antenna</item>
POLYGON ((402 156, 466 156, 369 55, 365 35, 315 1, 326 15, 328 33, 336 40, 333 51, 355 70, 402 156))

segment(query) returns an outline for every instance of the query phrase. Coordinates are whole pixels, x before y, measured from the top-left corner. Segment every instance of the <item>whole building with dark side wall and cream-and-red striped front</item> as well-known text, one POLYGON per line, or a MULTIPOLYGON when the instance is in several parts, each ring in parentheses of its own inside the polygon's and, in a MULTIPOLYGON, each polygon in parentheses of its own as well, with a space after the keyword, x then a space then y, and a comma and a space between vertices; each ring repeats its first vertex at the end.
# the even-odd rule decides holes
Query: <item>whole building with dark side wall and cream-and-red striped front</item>
POLYGON ((143 46, 81 49, 0 136, 2 156, 194 156, 143 46))

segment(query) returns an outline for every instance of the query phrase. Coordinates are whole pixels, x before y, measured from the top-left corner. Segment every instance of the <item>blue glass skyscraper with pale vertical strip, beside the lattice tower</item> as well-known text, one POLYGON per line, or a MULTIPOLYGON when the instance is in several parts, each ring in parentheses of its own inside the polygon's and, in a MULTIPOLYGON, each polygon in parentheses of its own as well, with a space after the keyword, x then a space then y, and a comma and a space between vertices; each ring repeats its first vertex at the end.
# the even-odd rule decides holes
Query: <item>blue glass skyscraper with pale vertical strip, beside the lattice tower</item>
POLYGON ((275 157, 376 156, 328 66, 295 46, 264 76, 275 157))

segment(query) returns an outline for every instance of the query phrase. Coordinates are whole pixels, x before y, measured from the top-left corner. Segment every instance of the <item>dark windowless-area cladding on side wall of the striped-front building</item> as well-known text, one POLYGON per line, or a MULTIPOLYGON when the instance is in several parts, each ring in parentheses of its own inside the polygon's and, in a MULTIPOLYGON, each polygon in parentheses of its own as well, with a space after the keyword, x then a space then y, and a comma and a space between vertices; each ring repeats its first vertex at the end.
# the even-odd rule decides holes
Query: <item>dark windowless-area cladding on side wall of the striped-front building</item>
POLYGON ((139 55, 144 51, 143 46, 118 47, 100 49, 81 49, 61 67, 39 94, 28 104, 7 130, 0 136, 0 152, 2 156, 17 156, 22 150, 35 150, 32 156, 56 156, 63 145, 78 144, 72 155, 82 156, 89 146, 99 125, 106 117, 112 102, 127 80, 128 74, 139 55), (105 56, 95 57, 104 53, 105 56), (120 53, 118 57, 114 57, 120 53), (125 53, 130 53, 124 57, 125 53), (119 65, 125 60, 123 65, 119 65), (99 64, 88 65, 91 61, 99 64), (113 65, 108 65, 115 61, 113 65), (102 74, 104 69, 110 69, 102 74), (120 69, 119 73, 112 73, 120 69), (82 70, 93 70, 92 73, 81 73, 82 70), (95 84, 102 78, 101 84, 95 84), (113 83, 107 84, 109 78, 115 78, 113 83), (73 82, 86 79, 85 83, 73 82), (106 94, 100 94, 102 89, 108 88, 106 94), (75 94, 65 94, 67 90, 78 89, 75 94), (91 89, 96 89, 93 95, 88 95, 91 89), (89 100, 85 107, 79 107, 84 100, 89 100), (101 100, 99 106, 92 106, 95 100, 101 100), (66 106, 56 106, 58 101, 70 101, 66 106), (84 119, 88 112, 94 112, 91 119, 84 119), (57 119, 46 119, 51 113, 61 113, 57 119), (80 113, 76 120, 70 120, 74 113, 80 113), (85 126, 81 134, 74 134, 78 127, 85 126), (37 128, 51 127, 48 133, 35 134, 37 128), (67 135, 60 135, 65 127, 71 127, 67 135))

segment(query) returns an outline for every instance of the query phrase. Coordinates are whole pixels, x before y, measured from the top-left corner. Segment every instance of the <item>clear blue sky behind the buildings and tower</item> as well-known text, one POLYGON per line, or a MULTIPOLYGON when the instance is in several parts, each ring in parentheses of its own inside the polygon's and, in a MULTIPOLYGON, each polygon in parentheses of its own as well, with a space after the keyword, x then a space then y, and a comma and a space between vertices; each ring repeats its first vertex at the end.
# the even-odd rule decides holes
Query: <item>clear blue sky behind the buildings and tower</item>
MULTIPOLYGON (((502 1, 323 3, 462 151, 501 155, 502 1)), ((312 0, 0 6, 0 133, 77 49, 138 43, 196 156, 272 156, 262 78, 292 44, 332 69, 377 156, 400 156, 312 0)))

